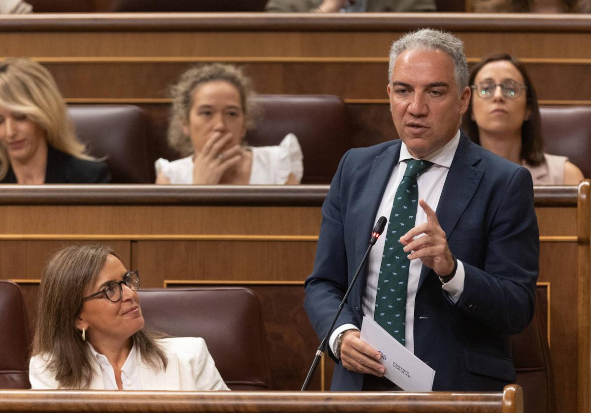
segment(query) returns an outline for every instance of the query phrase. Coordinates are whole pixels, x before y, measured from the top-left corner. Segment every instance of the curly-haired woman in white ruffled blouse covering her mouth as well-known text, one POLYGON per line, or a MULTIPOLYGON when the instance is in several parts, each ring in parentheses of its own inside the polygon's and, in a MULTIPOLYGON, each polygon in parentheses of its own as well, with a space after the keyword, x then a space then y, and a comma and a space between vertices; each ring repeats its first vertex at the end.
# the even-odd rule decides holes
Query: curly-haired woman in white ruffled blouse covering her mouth
POLYGON ((300 183, 303 156, 293 133, 278 146, 243 144, 252 124, 253 91, 240 69, 220 63, 191 68, 171 94, 168 143, 186 158, 158 159, 156 183, 300 183))

